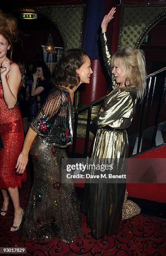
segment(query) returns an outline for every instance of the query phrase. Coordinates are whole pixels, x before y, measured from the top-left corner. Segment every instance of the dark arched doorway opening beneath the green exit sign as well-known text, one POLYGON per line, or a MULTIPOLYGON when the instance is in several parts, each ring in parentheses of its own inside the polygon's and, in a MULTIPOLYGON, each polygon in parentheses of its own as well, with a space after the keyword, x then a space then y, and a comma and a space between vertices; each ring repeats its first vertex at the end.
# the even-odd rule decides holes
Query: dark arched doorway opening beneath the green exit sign
POLYGON ((42 46, 47 43, 51 33, 56 47, 64 48, 62 37, 56 26, 45 16, 37 14, 36 20, 20 19, 20 13, 15 13, 20 30, 20 40, 15 44, 13 61, 27 62, 43 58, 42 46))

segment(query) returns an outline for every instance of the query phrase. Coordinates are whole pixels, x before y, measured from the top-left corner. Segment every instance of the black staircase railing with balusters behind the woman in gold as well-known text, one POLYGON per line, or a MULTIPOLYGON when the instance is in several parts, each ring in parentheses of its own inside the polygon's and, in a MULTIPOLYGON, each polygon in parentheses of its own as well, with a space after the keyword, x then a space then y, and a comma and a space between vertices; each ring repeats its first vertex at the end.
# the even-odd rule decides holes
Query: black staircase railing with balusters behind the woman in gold
MULTIPOLYGON (((166 143, 166 67, 146 77, 146 96, 137 104, 136 116, 127 129, 129 137, 129 156, 136 156, 166 143)), ((89 133, 94 132, 92 125, 92 108, 101 104, 104 97, 75 110, 74 137, 72 156, 77 156, 77 124, 79 114, 88 110, 86 136, 82 156, 90 156, 89 133)), ((95 134, 94 134, 95 135, 95 134)))

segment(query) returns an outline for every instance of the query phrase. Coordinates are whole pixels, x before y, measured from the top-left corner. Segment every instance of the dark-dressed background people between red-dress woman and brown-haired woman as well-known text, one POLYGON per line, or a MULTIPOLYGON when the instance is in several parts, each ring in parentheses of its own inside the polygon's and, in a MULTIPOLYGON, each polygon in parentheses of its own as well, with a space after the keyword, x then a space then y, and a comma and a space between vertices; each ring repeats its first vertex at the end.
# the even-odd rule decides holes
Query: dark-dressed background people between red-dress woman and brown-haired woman
POLYGON ((20 82, 17 106, 22 117, 24 133, 27 133, 29 123, 37 115, 40 106, 46 99, 51 89, 50 69, 42 61, 18 62, 22 80, 20 82))

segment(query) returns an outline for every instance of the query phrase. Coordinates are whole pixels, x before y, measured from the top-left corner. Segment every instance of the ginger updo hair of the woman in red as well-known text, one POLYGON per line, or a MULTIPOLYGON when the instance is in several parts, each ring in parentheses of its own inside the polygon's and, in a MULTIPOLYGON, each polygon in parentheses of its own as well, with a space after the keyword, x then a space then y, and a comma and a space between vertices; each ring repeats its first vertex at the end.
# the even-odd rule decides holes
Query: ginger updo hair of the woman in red
POLYGON ((10 59, 12 58, 12 49, 13 43, 15 43, 18 39, 18 28, 17 28, 17 20, 10 16, 9 14, 5 14, 0 10, 0 34, 7 40, 8 44, 10 44, 10 59))

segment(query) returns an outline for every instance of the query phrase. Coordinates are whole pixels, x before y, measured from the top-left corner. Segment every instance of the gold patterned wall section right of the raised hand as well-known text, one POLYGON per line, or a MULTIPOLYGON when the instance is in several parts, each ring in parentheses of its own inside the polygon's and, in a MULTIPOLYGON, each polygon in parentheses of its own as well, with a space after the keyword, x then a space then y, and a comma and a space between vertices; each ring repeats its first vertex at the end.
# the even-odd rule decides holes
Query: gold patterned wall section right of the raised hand
POLYGON ((139 48, 146 34, 163 18, 166 6, 123 5, 118 48, 126 44, 139 48))

